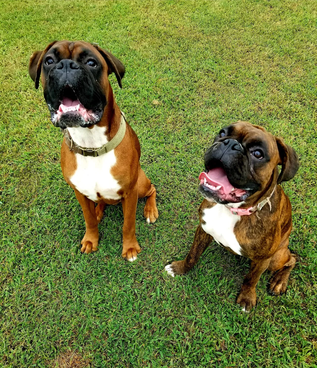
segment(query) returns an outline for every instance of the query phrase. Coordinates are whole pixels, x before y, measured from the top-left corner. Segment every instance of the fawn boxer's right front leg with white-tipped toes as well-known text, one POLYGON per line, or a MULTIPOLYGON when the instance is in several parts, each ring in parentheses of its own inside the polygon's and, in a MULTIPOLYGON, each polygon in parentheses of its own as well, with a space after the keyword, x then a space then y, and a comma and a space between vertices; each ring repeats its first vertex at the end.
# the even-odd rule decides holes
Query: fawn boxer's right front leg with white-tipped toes
POLYGON ((121 199, 121 202, 123 208, 123 247, 121 256, 133 262, 137 259, 137 254, 141 252, 141 248, 135 237, 138 184, 135 184, 134 188, 121 199))

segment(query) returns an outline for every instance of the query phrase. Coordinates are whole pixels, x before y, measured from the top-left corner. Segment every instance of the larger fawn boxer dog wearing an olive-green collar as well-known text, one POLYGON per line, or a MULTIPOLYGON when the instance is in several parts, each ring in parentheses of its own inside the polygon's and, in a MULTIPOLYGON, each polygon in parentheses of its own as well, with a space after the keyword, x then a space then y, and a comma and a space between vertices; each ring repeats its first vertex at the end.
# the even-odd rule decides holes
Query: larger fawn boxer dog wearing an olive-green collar
POLYGON ((34 52, 29 61, 35 88, 42 74, 51 120, 64 132, 61 170, 75 191, 86 224, 81 251, 98 249, 98 223, 105 205, 121 201, 122 257, 134 261, 141 252, 135 237, 137 201, 147 197, 144 216, 148 223, 155 222, 156 190, 141 169, 137 135, 115 102, 108 80, 112 72, 122 87, 121 61, 98 44, 83 41, 54 41, 34 52))

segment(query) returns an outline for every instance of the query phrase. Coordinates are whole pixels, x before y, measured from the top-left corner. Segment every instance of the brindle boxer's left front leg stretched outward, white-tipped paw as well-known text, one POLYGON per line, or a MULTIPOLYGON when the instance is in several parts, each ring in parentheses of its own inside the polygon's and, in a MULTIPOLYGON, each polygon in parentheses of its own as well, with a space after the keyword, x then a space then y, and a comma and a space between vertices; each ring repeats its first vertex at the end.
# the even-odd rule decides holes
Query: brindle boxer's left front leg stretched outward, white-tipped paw
POLYGON ((174 261, 171 265, 165 266, 168 274, 174 277, 175 275, 187 273, 196 265, 198 259, 202 253, 204 253, 212 239, 213 237, 207 234, 199 224, 195 233, 193 245, 186 258, 183 261, 174 261))

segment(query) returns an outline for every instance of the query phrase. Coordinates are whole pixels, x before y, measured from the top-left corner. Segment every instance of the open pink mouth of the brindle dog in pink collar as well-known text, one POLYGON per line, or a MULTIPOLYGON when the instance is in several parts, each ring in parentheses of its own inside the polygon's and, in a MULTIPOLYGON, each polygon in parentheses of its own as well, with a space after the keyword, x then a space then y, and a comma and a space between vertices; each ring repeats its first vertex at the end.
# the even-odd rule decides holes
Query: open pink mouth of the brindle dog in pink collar
POLYGON ((230 184, 226 171, 222 167, 202 172, 199 179, 200 187, 209 193, 209 195, 206 193, 208 198, 219 199, 221 202, 239 203, 250 195, 249 191, 235 188, 230 184))

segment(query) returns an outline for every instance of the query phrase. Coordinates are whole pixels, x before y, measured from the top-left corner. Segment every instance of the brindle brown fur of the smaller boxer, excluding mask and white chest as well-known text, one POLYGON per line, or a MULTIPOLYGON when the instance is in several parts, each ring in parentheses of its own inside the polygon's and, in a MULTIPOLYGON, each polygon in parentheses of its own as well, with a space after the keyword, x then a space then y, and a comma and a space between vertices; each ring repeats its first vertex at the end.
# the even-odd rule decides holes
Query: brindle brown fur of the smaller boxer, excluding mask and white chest
MULTIPOLYGON (((285 293, 289 274, 295 266, 296 256, 288 249, 288 237, 292 230, 292 206, 281 186, 277 184, 292 178, 299 167, 299 162, 295 151, 287 146, 282 138, 274 137, 262 127, 238 121, 234 123, 234 136, 238 141, 243 138, 244 142, 255 137, 265 139, 270 152, 270 161, 264 169, 262 167, 261 171, 256 173, 262 184, 260 190, 247 198, 241 208, 257 205, 270 196, 276 186, 270 198, 271 209, 266 204, 260 211, 249 216, 241 216, 234 228, 242 255, 251 260, 250 270, 237 297, 237 304, 248 312, 256 305, 256 285, 266 269, 277 272, 270 279, 269 291, 273 295, 279 295, 285 293), (282 165, 280 174, 278 164, 282 165)), ((172 263, 172 272, 175 274, 180 275, 193 268, 212 241, 213 237, 204 232, 201 224, 204 224, 202 219, 204 210, 215 204, 207 199, 202 201, 198 210, 200 224, 193 245, 184 261, 172 263)))

